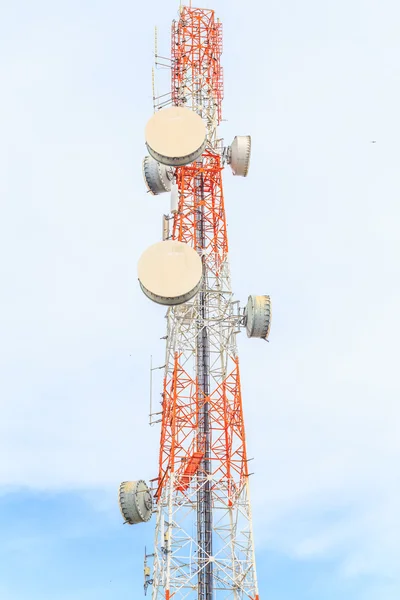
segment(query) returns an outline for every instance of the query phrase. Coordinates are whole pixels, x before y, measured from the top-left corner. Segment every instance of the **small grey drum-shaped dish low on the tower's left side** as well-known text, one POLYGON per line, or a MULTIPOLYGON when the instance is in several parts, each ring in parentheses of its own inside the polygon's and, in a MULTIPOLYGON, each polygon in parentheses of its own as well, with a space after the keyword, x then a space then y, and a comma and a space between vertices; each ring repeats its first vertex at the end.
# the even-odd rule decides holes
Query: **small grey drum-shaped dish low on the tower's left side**
POLYGON ((143 480, 123 481, 119 486, 118 499, 125 523, 136 525, 150 520, 153 500, 143 480))

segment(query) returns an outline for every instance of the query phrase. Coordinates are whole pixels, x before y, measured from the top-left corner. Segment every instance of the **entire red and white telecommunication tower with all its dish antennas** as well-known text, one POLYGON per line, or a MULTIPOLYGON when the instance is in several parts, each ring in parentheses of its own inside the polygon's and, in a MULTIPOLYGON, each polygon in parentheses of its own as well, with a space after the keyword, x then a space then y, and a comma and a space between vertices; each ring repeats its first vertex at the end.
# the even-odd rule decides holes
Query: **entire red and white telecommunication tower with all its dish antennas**
POLYGON ((168 307, 161 439, 157 477, 123 482, 119 502, 126 523, 155 516, 153 600, 259 598, 236 335, 267 340, 271 303, 250 296, 241 309, 231 289, 222 171, 247 176, 251 140, 218 138, 221 54, 214 11, 181 7, 171 91, 154 94, 145 130, 148 191, 171 195, 162 241, 138 264, 144 294, 168 307))

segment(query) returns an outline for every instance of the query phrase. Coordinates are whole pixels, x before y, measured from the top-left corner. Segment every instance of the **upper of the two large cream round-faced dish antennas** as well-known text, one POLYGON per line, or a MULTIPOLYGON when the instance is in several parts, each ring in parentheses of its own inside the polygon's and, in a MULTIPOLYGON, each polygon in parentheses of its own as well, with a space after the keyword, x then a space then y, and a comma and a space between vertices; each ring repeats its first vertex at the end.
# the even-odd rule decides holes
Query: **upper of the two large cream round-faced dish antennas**
POLYGON ((147 122, 146 146, 158 162, 171 167, 188 165, 203 154, 206 127, 190 108, 163 108, 147 122))

